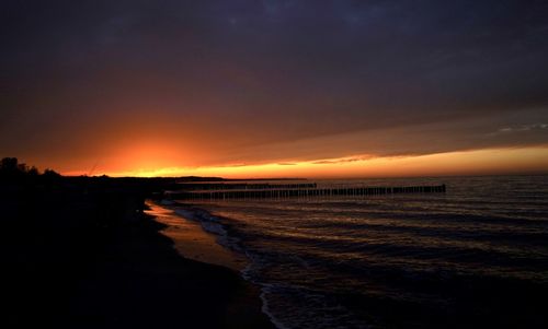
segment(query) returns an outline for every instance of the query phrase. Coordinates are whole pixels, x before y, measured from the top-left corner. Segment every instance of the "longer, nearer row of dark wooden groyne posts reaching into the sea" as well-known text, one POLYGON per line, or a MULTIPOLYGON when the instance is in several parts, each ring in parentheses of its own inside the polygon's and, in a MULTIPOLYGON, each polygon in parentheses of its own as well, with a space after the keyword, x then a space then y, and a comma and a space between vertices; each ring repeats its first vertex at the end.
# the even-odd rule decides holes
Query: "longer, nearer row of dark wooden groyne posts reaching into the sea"
POLYGON ((406 187, 356 187, 356 188, 304 188, 304 189, 265 189, 265 190, 212 190, 170 192, 172 199, 261 199, 289 197, 331 197, 331 196, 376 196, 397 193, 445 192, 445 185, 406 186, 406 187))

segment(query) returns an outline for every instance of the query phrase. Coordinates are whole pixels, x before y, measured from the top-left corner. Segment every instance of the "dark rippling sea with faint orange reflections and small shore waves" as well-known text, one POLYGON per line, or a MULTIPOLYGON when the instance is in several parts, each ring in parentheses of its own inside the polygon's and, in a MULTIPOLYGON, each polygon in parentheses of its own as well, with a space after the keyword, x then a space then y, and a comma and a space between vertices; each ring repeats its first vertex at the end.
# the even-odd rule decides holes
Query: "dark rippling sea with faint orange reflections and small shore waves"
POLYGON ((278 328, 548 328, 548 176, 311 181, 447 189, 181 200, 278 328))

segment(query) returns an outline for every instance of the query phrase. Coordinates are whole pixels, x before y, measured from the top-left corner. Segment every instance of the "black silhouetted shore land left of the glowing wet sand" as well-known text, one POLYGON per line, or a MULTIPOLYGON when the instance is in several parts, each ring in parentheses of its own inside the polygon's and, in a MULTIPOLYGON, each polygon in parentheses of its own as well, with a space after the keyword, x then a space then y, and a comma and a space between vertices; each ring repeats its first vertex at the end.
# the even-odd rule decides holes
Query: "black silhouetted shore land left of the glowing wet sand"
POLYGON ((169 183, 0 181, 0 326, 272 328, 256 287, 182 258, 142 213, 145 198, 169 183))

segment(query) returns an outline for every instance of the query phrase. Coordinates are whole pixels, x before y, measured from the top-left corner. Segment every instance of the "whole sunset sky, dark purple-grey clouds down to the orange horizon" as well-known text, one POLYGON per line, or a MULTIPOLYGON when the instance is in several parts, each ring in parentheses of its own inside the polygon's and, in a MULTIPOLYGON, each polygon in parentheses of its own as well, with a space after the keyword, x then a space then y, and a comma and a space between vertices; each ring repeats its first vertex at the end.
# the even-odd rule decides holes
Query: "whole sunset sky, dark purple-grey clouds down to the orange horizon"
POLYGON ((0 1, 0 156, 69 175, 548 173, 548 2, 0 1))

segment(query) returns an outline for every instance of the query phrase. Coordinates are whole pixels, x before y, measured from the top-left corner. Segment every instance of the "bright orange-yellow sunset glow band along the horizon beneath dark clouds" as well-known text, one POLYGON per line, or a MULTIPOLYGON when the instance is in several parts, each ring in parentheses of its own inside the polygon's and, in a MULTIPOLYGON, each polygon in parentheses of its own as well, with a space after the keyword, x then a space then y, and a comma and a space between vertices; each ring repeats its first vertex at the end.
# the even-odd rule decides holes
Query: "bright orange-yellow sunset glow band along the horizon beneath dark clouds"
MULTIPOLYGON (((347 156, 292 163, 225 166, 173 166, 178 153, 145 146, 123 153, 116 168, 94 175, 114 177, 220 176, 226 178, 344 178, 548 173, 548 148, 490 149, 393 157, 347 156)), ((65 175, 84 175, 67 172, 65 175)))

